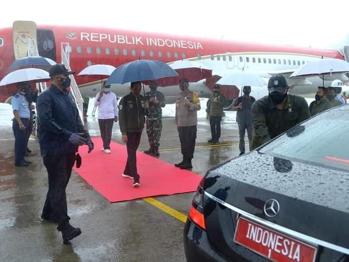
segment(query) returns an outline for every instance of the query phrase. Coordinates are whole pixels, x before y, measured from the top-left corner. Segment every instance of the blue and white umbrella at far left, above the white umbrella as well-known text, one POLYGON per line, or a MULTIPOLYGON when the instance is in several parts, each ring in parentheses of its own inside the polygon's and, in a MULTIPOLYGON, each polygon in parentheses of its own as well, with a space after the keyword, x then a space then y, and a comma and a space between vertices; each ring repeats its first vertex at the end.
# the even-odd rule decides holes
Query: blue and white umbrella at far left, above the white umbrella
POLYGON ((8 68, 8 72, 14 71, 18 68, 34 67, 40 69, 49 69, 56 65, 53 60, 42 56, 27 56, 16 59, 8 68))

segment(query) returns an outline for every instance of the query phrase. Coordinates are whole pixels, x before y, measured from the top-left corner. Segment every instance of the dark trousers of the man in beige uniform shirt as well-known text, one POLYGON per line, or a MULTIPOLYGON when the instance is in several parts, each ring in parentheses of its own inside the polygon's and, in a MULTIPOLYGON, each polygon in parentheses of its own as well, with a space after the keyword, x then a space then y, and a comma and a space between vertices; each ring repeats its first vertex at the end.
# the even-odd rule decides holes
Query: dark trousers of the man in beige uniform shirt
POLYGON ((186 159, 194 158, 196 126, 178 127, 179 141, 181 142, 182 155, 186 159))

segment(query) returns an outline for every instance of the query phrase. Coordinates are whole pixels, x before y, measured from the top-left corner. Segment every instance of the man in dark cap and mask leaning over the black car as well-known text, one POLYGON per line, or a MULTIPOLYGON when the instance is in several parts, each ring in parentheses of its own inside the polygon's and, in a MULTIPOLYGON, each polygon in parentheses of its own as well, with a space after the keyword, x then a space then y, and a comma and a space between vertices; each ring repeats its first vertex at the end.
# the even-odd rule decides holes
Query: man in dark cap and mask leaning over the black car
POLYGON ((306 100, 287 94, 288 84, 283 75, 269 79, 268 91, 269 96, 256 100, 252 105, 252 149, 310 117, 306 100))

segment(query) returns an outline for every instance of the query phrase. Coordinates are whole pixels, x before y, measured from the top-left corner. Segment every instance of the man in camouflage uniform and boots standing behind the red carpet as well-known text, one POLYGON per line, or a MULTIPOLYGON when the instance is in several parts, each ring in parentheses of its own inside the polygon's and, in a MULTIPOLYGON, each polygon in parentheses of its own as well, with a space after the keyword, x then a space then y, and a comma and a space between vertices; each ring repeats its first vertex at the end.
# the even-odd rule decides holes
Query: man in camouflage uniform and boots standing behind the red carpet
POLYGON ((145 150, 146 154, 154 154, 159 156, 160 136, 162 130, 162 109, 165 107, 164 95, 157 91, 158 82, 152 80, 149 84, 150 92, 145 94, 145 100, 149 104, 149 115, 146 117, 146 131, 150 148, 145 150))

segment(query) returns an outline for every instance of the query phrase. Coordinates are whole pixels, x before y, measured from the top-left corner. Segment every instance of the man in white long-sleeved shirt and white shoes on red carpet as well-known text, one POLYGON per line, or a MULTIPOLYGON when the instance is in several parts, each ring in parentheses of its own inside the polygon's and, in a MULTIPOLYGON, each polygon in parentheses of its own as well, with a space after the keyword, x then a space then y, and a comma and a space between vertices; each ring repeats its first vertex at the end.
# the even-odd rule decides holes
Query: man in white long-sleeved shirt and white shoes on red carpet
POLYGON ((110 85, 104 85, 103 92, 98 92, 95 97, 95 107, 98 106, 98 125, 103 140, 101 151, 111 153, 110 142, 112 126, 118 121, 117 100, 114 93, 110 91, 110 85))

